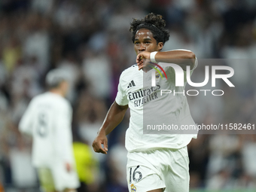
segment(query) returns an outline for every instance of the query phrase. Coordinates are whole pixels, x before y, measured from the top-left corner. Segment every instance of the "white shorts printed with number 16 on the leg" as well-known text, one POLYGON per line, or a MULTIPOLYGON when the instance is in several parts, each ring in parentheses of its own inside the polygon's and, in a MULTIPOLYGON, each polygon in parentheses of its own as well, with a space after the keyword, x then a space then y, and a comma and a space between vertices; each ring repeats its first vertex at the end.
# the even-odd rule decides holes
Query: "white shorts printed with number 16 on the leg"
POLYGON ((130 192, 163 188, 164 192, 189 191, 187 146, 127 154, 126 178, 130 192))

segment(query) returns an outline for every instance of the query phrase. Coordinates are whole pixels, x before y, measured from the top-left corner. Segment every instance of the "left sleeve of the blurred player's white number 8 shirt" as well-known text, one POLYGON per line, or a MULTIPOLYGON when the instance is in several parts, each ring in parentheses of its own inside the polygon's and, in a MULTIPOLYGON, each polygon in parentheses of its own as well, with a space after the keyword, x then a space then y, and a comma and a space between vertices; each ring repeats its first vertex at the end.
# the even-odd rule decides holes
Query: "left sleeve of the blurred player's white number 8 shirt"
POLYGON ((20 132, 26 133, 30 136, 32 136, 32 119, 34 118, 33 108, 34 108, 34 100, 29 102, 29 106, 28 108, 26 108, 26 111, 21 117, 20 123, 19 123, 20 132))

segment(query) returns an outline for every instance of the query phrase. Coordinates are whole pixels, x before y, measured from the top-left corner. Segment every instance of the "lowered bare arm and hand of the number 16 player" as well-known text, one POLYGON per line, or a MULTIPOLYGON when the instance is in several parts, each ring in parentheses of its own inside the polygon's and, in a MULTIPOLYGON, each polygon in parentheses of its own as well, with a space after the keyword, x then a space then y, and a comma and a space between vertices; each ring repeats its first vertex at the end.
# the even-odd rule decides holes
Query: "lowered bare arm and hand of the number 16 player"
POLYGON ((108 139, 106 136, 123 120, 127 108, 128 105, 118 105, 117 102, 113 102, 101 128, 99 129, 96 139, 93 141, 93 150, 95 152, 107 154, 108 139), (104 148, 102 148, 102 144, 104 148))

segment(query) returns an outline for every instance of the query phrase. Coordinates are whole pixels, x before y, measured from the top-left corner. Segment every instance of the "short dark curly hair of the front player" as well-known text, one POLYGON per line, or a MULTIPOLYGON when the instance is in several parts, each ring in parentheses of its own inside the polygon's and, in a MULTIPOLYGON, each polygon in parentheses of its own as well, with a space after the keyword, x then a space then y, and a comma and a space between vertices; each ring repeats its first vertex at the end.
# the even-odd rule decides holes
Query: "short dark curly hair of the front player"
POLYGON ((133 33, 132 41, 134 42, 136 32, 139 29, 148 29, 152 32, 153 37, 156 39, 157 44, 169 40, 169 31, 165 29, 166 21, 163 20, 163 17, 160 14, 148 14, 142 20, 133 19, 133 22, 130 23, 130 32, 133 33))

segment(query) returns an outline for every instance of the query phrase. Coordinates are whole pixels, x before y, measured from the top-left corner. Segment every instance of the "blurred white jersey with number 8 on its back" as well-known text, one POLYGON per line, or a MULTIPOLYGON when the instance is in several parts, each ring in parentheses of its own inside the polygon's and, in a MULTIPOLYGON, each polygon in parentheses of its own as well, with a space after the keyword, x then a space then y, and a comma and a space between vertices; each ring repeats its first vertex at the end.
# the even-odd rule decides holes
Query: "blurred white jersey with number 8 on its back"
POLYGON ((47 92, 32 99, 19 129, 32 135, 32 164, 35 167, 75 163, 71 123, 72 107, 62 96, 47 92))

